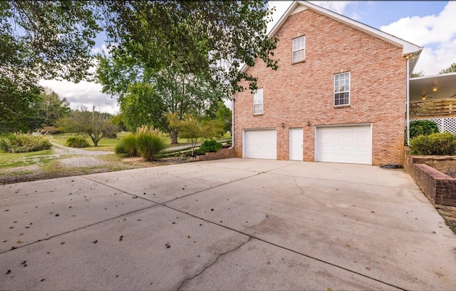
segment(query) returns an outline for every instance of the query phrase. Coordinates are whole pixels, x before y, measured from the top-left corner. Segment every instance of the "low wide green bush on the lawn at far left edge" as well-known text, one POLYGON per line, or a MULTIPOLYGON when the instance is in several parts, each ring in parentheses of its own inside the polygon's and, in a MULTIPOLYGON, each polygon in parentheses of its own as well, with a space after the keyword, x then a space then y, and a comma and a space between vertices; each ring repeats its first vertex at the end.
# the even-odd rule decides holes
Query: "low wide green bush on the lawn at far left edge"
POLYGON ((0 148, 6 153, 28 153, 47 150, 52 144, 48 134, 9 133, 0 138, 0 148))

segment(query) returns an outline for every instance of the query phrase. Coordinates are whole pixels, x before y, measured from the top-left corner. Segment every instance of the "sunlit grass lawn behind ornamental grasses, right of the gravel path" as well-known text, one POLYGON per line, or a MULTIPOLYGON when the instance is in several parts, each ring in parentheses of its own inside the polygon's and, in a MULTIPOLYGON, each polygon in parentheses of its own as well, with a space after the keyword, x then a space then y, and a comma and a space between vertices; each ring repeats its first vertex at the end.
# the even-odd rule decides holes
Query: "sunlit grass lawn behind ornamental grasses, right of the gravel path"
MULTIPOLYGON (((66 138, 68 136, 75 136, 76 134, 74 133, 61 133, 61 134, 54 134, 52 135, 52 141, 54 143, 57 143, 58 145, 61 146, 66 146, 66 138)), ((107 150, 107 151, 114 151, 115 146, 119 143, 120 139, 123 136, 128 135, 128 133, 122 132, 117 134, 117 138, 102 138, 98 142, 98 146, 93 146, 93 142, 90 138, 86 138, 86 141, 90 146, 88 148, 83 148, 84 150, 107 150)), ((219 138, 219 141, 225 141, 225 140, 231 140, 231 136, 229 133, 225 134, 222 136, 222 138, 219 138)), ((198 139, 198 142, 203 141, 202 139, 198 139)), ((168 147, 172 148, 173 146, 183 146, 183 145, 189 145, 191 144, 190 140, 187 138, 177 138, 177 145, 172 145, 171 144, 171 139, 169 137, 165 138, 165 143, 167 144, 168 147)))

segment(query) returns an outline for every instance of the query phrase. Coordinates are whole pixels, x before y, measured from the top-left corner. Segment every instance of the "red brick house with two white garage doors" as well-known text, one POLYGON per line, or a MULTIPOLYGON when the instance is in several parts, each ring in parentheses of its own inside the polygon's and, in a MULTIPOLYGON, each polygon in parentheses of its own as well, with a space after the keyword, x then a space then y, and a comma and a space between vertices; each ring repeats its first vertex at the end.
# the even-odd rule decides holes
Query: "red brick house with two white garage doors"
POLYGON ((402 164, 408 79, 423 48, 306 1, 291 4, 276 35, 277 71, 261 59, 242 68, 259 89, 234 95, 236 156, 402 164))

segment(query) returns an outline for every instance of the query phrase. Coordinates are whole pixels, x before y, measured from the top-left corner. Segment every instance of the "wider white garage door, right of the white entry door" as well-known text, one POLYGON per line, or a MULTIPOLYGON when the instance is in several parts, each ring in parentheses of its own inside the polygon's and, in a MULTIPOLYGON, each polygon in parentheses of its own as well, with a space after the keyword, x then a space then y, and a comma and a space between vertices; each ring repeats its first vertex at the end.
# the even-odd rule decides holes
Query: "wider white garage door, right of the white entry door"
POLYGON ((315 160, 372 164, 371 126, 331 126, 316 129, 315 160))

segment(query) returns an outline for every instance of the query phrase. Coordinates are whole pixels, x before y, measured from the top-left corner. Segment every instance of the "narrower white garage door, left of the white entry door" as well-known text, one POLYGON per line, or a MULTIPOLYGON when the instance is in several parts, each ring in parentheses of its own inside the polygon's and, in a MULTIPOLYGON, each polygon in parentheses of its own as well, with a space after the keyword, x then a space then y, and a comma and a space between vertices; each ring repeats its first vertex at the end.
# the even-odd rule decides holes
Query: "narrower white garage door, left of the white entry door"
POLYGON ((277 158, 275 129, 244 131, 244 158, 277 158))

